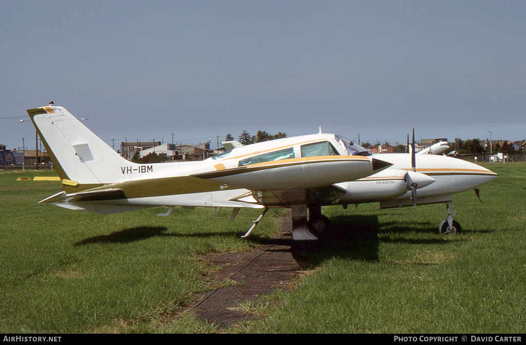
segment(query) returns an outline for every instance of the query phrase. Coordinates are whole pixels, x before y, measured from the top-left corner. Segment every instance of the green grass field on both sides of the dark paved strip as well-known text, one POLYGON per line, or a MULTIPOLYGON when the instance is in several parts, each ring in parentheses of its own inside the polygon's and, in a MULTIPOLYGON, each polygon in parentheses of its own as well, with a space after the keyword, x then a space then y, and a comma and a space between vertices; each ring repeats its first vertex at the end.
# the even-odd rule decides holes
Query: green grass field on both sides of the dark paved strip
MULTIPOLYGON (((523 333, 526 165, 486 165, 500 177, 454 196, 462 235, 439 235, 444 205, 379 211, 325 208, 334 225, 295 252, 294 289, 250 306, 264 316, 229 332, 523 333), (271 299, 272 303, 267 303, 271 299)), ((214 286, 211 252, 250 250, 255 217, 166 208, 93 215, 48 204, 53 172, 0 172, 0 332, 217 332, 191 313, 166 322, 214 286)), ((277 226, 265 218, 255 236, 277 226)))

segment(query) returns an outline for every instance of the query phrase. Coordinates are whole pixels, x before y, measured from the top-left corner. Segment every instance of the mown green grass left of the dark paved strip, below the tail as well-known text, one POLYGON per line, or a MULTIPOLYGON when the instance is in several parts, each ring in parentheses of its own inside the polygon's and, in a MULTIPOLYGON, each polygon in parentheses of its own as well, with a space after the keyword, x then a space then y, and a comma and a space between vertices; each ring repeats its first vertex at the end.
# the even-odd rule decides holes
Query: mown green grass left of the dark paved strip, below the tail
MULTIPOLYGON (((215 268, 204 254, 251 248, 240 235, 257 215, 230 222, 205 208, 176 208, 170 217, 157 217, 166 207, 106 216, 71 211, 37 204, 60 182, 16 181, 35 175, 54 172, 0 174, 0 332, 120 332, 155 324, 211 287, 215 268)), ((276 227, 269 218, 257 231, 269 236, 276 227)), ((171 329, 214 327, 188 316, 171 329)))

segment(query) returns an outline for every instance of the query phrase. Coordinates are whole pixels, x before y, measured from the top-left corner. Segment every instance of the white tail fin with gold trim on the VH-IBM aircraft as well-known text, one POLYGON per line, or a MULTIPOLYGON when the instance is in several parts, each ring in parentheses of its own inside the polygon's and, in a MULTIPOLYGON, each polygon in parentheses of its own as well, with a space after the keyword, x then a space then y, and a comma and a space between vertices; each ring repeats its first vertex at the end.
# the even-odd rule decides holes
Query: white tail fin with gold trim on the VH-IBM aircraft
POLYGON ((63 107, 28 109, 58 176, 78 184, 107 184, 122 180, 124 159, 63 107))

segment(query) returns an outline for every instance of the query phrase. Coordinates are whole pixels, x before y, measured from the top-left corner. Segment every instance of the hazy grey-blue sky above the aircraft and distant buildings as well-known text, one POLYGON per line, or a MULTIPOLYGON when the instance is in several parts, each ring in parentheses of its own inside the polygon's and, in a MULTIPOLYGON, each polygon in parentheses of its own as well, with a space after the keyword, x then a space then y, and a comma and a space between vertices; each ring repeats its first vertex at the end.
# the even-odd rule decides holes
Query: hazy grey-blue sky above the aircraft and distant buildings
MULTIPOLYGON (((0 143, 53 100, 111 144, 242 130, 526 139, 524 1, 0 0, 0 143), (20 116, 20 117, 19 117, 20 116)), ((215 144, 213 144, 215 147, 215 144)))

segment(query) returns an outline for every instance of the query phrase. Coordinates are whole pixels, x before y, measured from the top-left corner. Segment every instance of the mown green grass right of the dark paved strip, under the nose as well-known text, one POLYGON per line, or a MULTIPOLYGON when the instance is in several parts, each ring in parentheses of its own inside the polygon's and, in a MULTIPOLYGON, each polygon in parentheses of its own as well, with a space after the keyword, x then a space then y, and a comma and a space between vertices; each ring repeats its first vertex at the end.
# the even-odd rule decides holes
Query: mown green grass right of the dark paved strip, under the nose
POLYGON ((454 196, 460 236, 436 233, 443 205, 332 210, 334 238, 304 253, 315 272, 239 331, 524 333, 526 164, 486 166, 484 204, 454 196))

